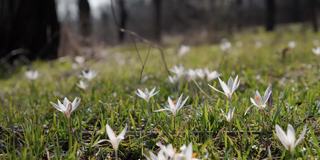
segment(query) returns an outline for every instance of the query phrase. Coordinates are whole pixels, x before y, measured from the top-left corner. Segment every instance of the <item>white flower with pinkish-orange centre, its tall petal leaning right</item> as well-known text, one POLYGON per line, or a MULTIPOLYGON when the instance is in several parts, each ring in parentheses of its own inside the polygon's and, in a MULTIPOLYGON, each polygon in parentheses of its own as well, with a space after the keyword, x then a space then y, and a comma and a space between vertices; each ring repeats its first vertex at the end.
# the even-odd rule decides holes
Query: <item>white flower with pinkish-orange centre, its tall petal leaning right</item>
POLYGON ((261 97, 260 93, 256 91, 256 95, 254 96, 254 98, 250 98, 250 101, 254 106, 258 107, 259 109, 264 109, 267 106, 267 102, 270 98, 271 93, 271 86, 269 86, 264 92, 263 97, 261 97))

